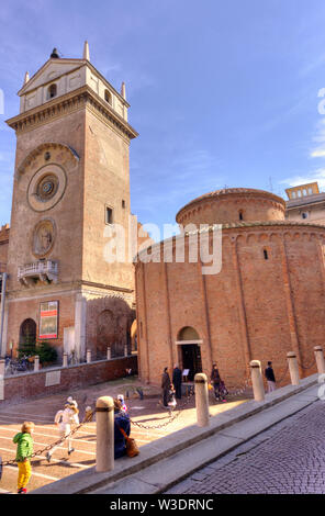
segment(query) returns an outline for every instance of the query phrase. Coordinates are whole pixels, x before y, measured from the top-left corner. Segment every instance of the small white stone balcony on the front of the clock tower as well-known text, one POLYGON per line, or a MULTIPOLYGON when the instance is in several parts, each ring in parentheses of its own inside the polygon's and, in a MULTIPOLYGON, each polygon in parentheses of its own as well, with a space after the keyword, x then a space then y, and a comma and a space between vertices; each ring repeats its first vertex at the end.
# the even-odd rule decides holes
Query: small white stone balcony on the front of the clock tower
POLYGON ((57 283, 57 277, 58 262, 53 260, 38 260, 18 268, 18 279, 26 287, 37 282, 57 283))

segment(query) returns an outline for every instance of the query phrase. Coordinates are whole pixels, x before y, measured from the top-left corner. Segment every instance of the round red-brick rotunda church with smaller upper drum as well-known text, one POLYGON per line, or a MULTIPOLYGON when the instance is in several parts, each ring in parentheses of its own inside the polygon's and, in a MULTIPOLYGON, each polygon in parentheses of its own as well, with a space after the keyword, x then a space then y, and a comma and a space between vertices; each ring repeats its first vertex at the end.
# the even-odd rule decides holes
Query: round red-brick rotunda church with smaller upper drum
MULTIPOLYGON (((284 220, 285 202, 254 189, 224 189, 194 199, 176 220, 184 237, 184 260, 176 259, 178 237, 138 255, 135 265, 138 368, 144 381, 159 384, 175 363, 210 375, 217 363, 227 386, 243 385, 249 361, 273 362, 285 373, 295 351, 301 377, 313 362, 313 347, 325 336, 325 227, 284 220), (190 253, 193 237, 222 229, 222 263, 202 273, 190 253), (189 226, 190 225, 190 226, 189 226), (208 225, 203 227, 202 225, 208 225), (191 231, 187 231, 188 227, 191 231), (206 231, 208 227, 208 231, 206 231), (194 228, 194 229, 193 229, 194 228), (157 256, 160 256, 160 260, 157 256), (156 258, 155 258, 156 257, 156 258)), ((289 377, 288 377, 289 380, 289 377)))

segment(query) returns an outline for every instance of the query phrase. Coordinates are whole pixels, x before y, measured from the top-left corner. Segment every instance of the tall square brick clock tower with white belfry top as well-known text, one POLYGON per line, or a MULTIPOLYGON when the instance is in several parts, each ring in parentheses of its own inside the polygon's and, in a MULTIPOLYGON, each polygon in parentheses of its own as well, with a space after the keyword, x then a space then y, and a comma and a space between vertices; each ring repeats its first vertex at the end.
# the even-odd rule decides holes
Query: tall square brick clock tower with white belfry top
POLYGON ((20 113, 7 121, 16 154, 0 259, 8 274, 1 355, 27 336, 81 359, 86 348, 98 358, 108 346, 123 354, 134 272, 132 262, 108 262, 105 229, 119 223, 127 235, 130 224, 128 149, 137 133, 125 86, 117 92, 93 67, 86 43, 80 59, 54 51, 18 94, 20 113))

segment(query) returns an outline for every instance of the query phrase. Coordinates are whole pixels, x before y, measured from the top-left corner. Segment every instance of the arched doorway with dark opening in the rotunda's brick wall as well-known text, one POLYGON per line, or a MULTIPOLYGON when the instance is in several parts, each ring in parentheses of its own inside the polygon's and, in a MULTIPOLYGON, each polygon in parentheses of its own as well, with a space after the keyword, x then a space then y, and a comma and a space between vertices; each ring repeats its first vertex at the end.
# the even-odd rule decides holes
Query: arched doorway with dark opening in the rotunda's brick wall
POLYGON ((200 337, 191 326, 186 326, 178 334, 177 344, 180 346, 179 358, 182 370, 188 369, 188 380, 193 381, 198 372, 202 372, 200 337))

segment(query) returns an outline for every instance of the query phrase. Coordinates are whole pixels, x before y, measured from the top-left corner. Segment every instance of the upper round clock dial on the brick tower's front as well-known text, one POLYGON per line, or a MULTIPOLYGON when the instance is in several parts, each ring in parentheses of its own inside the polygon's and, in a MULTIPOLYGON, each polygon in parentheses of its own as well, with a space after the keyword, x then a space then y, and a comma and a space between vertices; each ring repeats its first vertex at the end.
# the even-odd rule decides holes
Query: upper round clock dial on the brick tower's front
POLYGON ((45 165, 31 179, 27 189, 30 206, 36 212, 45 212, 54 207, 63 198, 67 186, 67 177, 58 165, 45 165))

